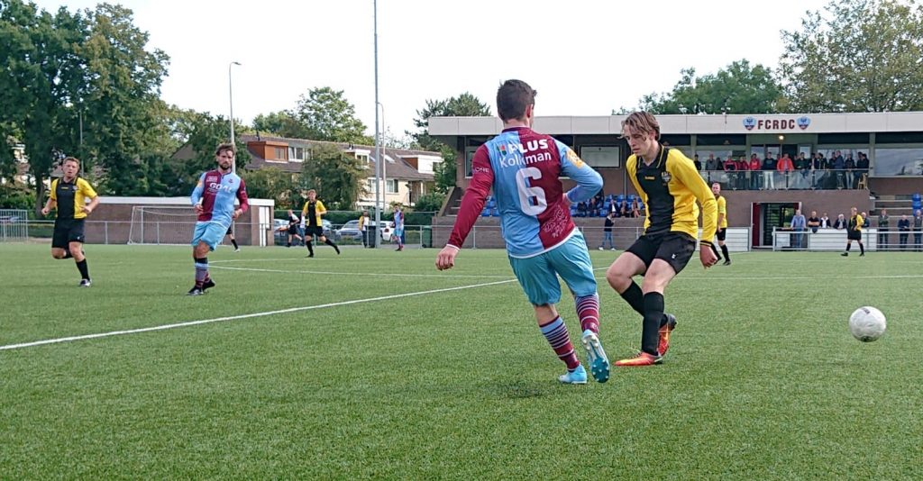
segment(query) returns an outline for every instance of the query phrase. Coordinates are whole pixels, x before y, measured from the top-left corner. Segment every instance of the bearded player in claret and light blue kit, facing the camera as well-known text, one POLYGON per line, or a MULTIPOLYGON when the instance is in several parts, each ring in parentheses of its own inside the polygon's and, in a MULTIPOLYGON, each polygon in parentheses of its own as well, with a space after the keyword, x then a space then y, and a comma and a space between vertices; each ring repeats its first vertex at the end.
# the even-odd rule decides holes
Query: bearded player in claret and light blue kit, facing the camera
POLYGON ((215 150, 218 168, 198 177, 190 200, 198 213, 192 236, 192 259, 196 266, 196 284, 186 295, 203 295, 215 286, 209 275, 210 251, 218 247, 228 226, 250 208, 244 179, 234 174, 234 145, 221 144, 215 150), (234 199, 240 208, 234 209, 234 199))

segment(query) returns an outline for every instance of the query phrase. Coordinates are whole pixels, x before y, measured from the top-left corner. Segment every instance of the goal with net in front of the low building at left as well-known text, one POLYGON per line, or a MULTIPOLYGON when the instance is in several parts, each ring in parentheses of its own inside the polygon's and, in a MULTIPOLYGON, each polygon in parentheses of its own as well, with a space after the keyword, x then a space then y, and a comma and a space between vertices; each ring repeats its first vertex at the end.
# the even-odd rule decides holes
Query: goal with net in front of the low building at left
POLYGON ((192 206, 134 206, 128 244, 189 244, 197 219, 192 206))

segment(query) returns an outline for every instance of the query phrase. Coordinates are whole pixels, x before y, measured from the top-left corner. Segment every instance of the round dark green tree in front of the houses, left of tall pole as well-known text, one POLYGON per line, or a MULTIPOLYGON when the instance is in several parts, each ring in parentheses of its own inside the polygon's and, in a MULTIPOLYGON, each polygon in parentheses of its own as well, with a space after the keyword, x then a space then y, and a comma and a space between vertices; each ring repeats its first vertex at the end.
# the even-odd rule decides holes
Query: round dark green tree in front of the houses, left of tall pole
POLYGON ((302 164, 300 186, 318 191, 331 210, 350 210, 365 191, 366 163, 332 145, 311 148, 310 160, 302 164))

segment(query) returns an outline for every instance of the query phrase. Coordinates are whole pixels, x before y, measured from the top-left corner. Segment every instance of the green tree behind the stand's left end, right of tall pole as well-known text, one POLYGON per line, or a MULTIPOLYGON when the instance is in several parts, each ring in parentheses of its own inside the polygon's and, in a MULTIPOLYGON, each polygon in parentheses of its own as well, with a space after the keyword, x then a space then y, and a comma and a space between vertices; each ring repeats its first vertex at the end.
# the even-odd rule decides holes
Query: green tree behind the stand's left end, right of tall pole
POLYGON ((420 130, 410 134, 414 138, 415 147, 422 150, 438 151, 442 155, 442 162, 434 167, 436 178, 436 191, 445 194, 455 186, 456 171, 455 149, 433 138, 426 131, 429 128, 429 117, 432 116, 488 116, 490 107, 485 102, 464 92, 458 97, 434 101, 427 100, 423 110, 416 111, 414 125, 420 130))

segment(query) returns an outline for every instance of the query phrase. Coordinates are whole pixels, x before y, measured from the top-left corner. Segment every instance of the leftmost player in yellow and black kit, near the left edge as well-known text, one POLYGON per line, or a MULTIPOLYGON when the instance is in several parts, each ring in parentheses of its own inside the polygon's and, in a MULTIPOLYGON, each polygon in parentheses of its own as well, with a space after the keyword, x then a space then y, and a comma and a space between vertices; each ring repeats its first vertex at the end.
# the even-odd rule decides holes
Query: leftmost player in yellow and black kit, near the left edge
POLYGON ((90 270, 83 255, 83 221, 100 203, 100 197, 90 183, 78 176, 80 161, 67 157, 61 164, 64 177, 52 181, 51 197, 45 202, 42 214, 48 215, 57 207, 52 236, 54 259, 74 258, 80 271, 80 287, 90 287, 90 270), (90 199, 87 204, 86 199, 90 199))

